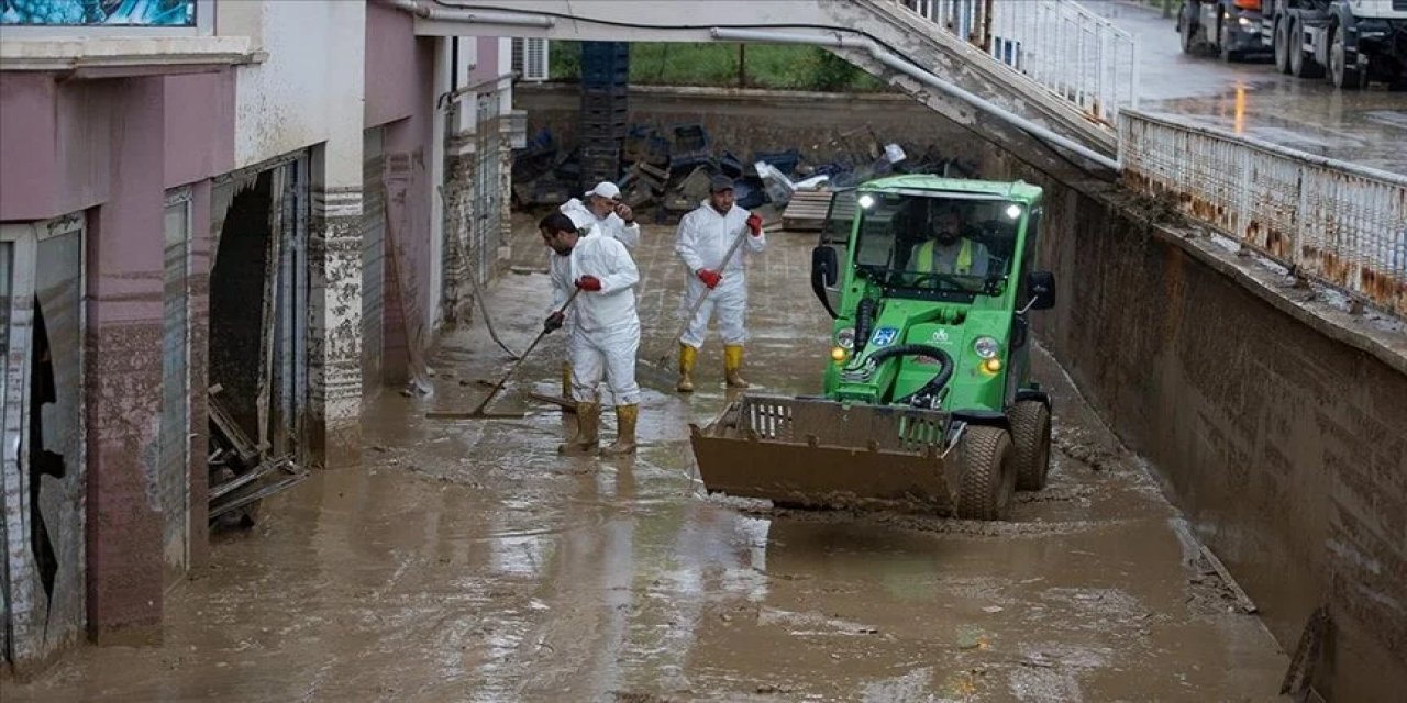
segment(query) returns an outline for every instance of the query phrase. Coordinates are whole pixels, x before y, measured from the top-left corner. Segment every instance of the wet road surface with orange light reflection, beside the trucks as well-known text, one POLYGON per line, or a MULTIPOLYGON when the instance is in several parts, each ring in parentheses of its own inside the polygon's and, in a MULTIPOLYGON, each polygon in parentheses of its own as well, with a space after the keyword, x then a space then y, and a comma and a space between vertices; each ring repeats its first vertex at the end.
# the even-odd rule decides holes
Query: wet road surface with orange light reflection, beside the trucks
POLYGON ((1247 63, 1189 56, 1176 21, 1155 7, 1123 0, 1088 7, 1134 37, 1140 110, 1407 174, 1407 91, 1383 84, 1339 91, 1328 80, 1285 76, 1269 56, 1247 63))

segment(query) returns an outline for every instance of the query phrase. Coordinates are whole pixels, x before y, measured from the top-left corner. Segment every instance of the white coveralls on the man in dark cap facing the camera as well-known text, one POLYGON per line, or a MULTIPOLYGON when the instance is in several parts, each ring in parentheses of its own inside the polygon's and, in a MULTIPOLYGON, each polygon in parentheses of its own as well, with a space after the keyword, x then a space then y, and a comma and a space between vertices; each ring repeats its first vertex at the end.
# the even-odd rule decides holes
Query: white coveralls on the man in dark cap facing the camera
POLYGON ((680 342, 698 349, 704 346, 704 336, 708 333, 708 321, 718 311, 718 330, 725 344, 743 344, 747 342, 746 309, 747 309, 747 254, 767 249, 767 235, 751 236, 747 229, 747 218, 751 212, 734 205, 727 214, 719 214, 709 201, 704 201, 692 212, 680 219, 680 229, 675 235, 674 252, 680 254, 688 269, 688 283, 685 284, 684 307, 681 314, 698 302, 699 297, 708 291, 698 277, 699 269, 711 269, 723 276, 708 299, 699 305, 698 312, 689 322, 688 329, 680 342), (744 233, 746 232, 746 233, 744 233), (737 247, 733 259, 723 267, 723 257, 739 236, 747 242, 737 247))

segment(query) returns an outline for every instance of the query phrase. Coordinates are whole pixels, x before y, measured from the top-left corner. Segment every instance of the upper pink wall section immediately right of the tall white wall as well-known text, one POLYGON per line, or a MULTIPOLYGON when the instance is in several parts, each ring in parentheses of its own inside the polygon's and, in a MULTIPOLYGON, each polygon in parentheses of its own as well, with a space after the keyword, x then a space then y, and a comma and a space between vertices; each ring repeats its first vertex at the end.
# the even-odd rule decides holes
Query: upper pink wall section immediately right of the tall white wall
MULTIPOLYGON (((364 127, 378 127, 409 117, 422 105, 422 73, 416 56, 415 24, 409 14, 378 3, 366 6, 366 104, 364 127)), ((433 63, 431 65, 433 70, 433 63)))

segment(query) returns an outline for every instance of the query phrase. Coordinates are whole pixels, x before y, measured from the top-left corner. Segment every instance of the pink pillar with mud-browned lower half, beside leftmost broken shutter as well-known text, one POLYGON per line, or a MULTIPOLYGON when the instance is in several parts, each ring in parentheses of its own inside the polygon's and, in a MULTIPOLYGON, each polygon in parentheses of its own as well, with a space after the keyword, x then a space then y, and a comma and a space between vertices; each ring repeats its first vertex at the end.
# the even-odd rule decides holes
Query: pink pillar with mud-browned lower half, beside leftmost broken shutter
POLYGON ((113 187, 87 239, 87 596, 98 641, 156 636, 163 598, 162 517, 148 495, 162 384, 165 80, 115 83, 113 187))

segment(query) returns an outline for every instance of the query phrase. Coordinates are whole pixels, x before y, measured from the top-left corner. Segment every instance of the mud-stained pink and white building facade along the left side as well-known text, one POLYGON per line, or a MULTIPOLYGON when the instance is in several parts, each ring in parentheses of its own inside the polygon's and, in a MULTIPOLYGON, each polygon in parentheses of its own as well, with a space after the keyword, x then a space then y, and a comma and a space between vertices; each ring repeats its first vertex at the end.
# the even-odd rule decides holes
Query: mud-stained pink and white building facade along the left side
POLYGON ((212 404, 262 457, 359 461, 492 276, 508 46, 390 3, 0 0, 0 661, 160 637, 212 404))

